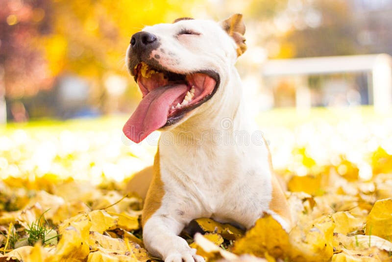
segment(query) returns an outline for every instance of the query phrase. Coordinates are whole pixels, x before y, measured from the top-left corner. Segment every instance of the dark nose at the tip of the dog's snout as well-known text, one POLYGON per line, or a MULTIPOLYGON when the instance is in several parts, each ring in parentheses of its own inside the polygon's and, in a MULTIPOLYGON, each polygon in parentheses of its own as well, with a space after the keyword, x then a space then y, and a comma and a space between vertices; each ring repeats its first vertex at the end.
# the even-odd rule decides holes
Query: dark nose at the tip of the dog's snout
POLYGON ((133 55, 140 60, 145 54, 149 54, 152 50, 157 49, 159 42, 157 37, 148 32, 138 32, 131 37, 130 48, 133 55))

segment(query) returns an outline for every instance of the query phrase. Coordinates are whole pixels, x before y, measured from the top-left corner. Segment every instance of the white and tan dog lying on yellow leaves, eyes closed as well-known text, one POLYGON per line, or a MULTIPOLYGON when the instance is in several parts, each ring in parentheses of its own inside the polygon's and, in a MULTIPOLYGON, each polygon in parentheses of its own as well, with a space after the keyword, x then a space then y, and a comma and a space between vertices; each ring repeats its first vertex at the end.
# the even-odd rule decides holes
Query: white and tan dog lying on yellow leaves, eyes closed
POLYGON ((254 141, 257 126, 242 97, 235 63, 246 50, 244 34, 241 14, 218 23, 180 18, 146 26, 127 49, 143 99, 123 133, 139 143, 162 131, 147 169, 142 226, 148 252, 165 262, 204 261, 178 236, 196 218, 249 229, 268 213, 291 228, 268 146, 254 141), (252 141, 239 141, 239 133, 252 141))

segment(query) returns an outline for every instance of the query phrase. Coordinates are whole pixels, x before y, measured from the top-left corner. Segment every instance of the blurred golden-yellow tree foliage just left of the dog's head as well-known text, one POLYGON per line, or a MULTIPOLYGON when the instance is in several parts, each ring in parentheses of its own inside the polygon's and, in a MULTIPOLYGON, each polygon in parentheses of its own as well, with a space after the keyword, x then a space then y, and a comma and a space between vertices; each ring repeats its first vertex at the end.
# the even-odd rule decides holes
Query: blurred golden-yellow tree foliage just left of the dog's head
POLYGON ((179 16, 189 16, 192 4, 172 0, 53 1, 52 33, 41 41, 50 72, 90 79, 92 104, 102 108, 107 93, 104 83, 110 83, 107 79, 113 75, 126 75, 124 56, 132 34, 146 24, 171 23, 179 16))

